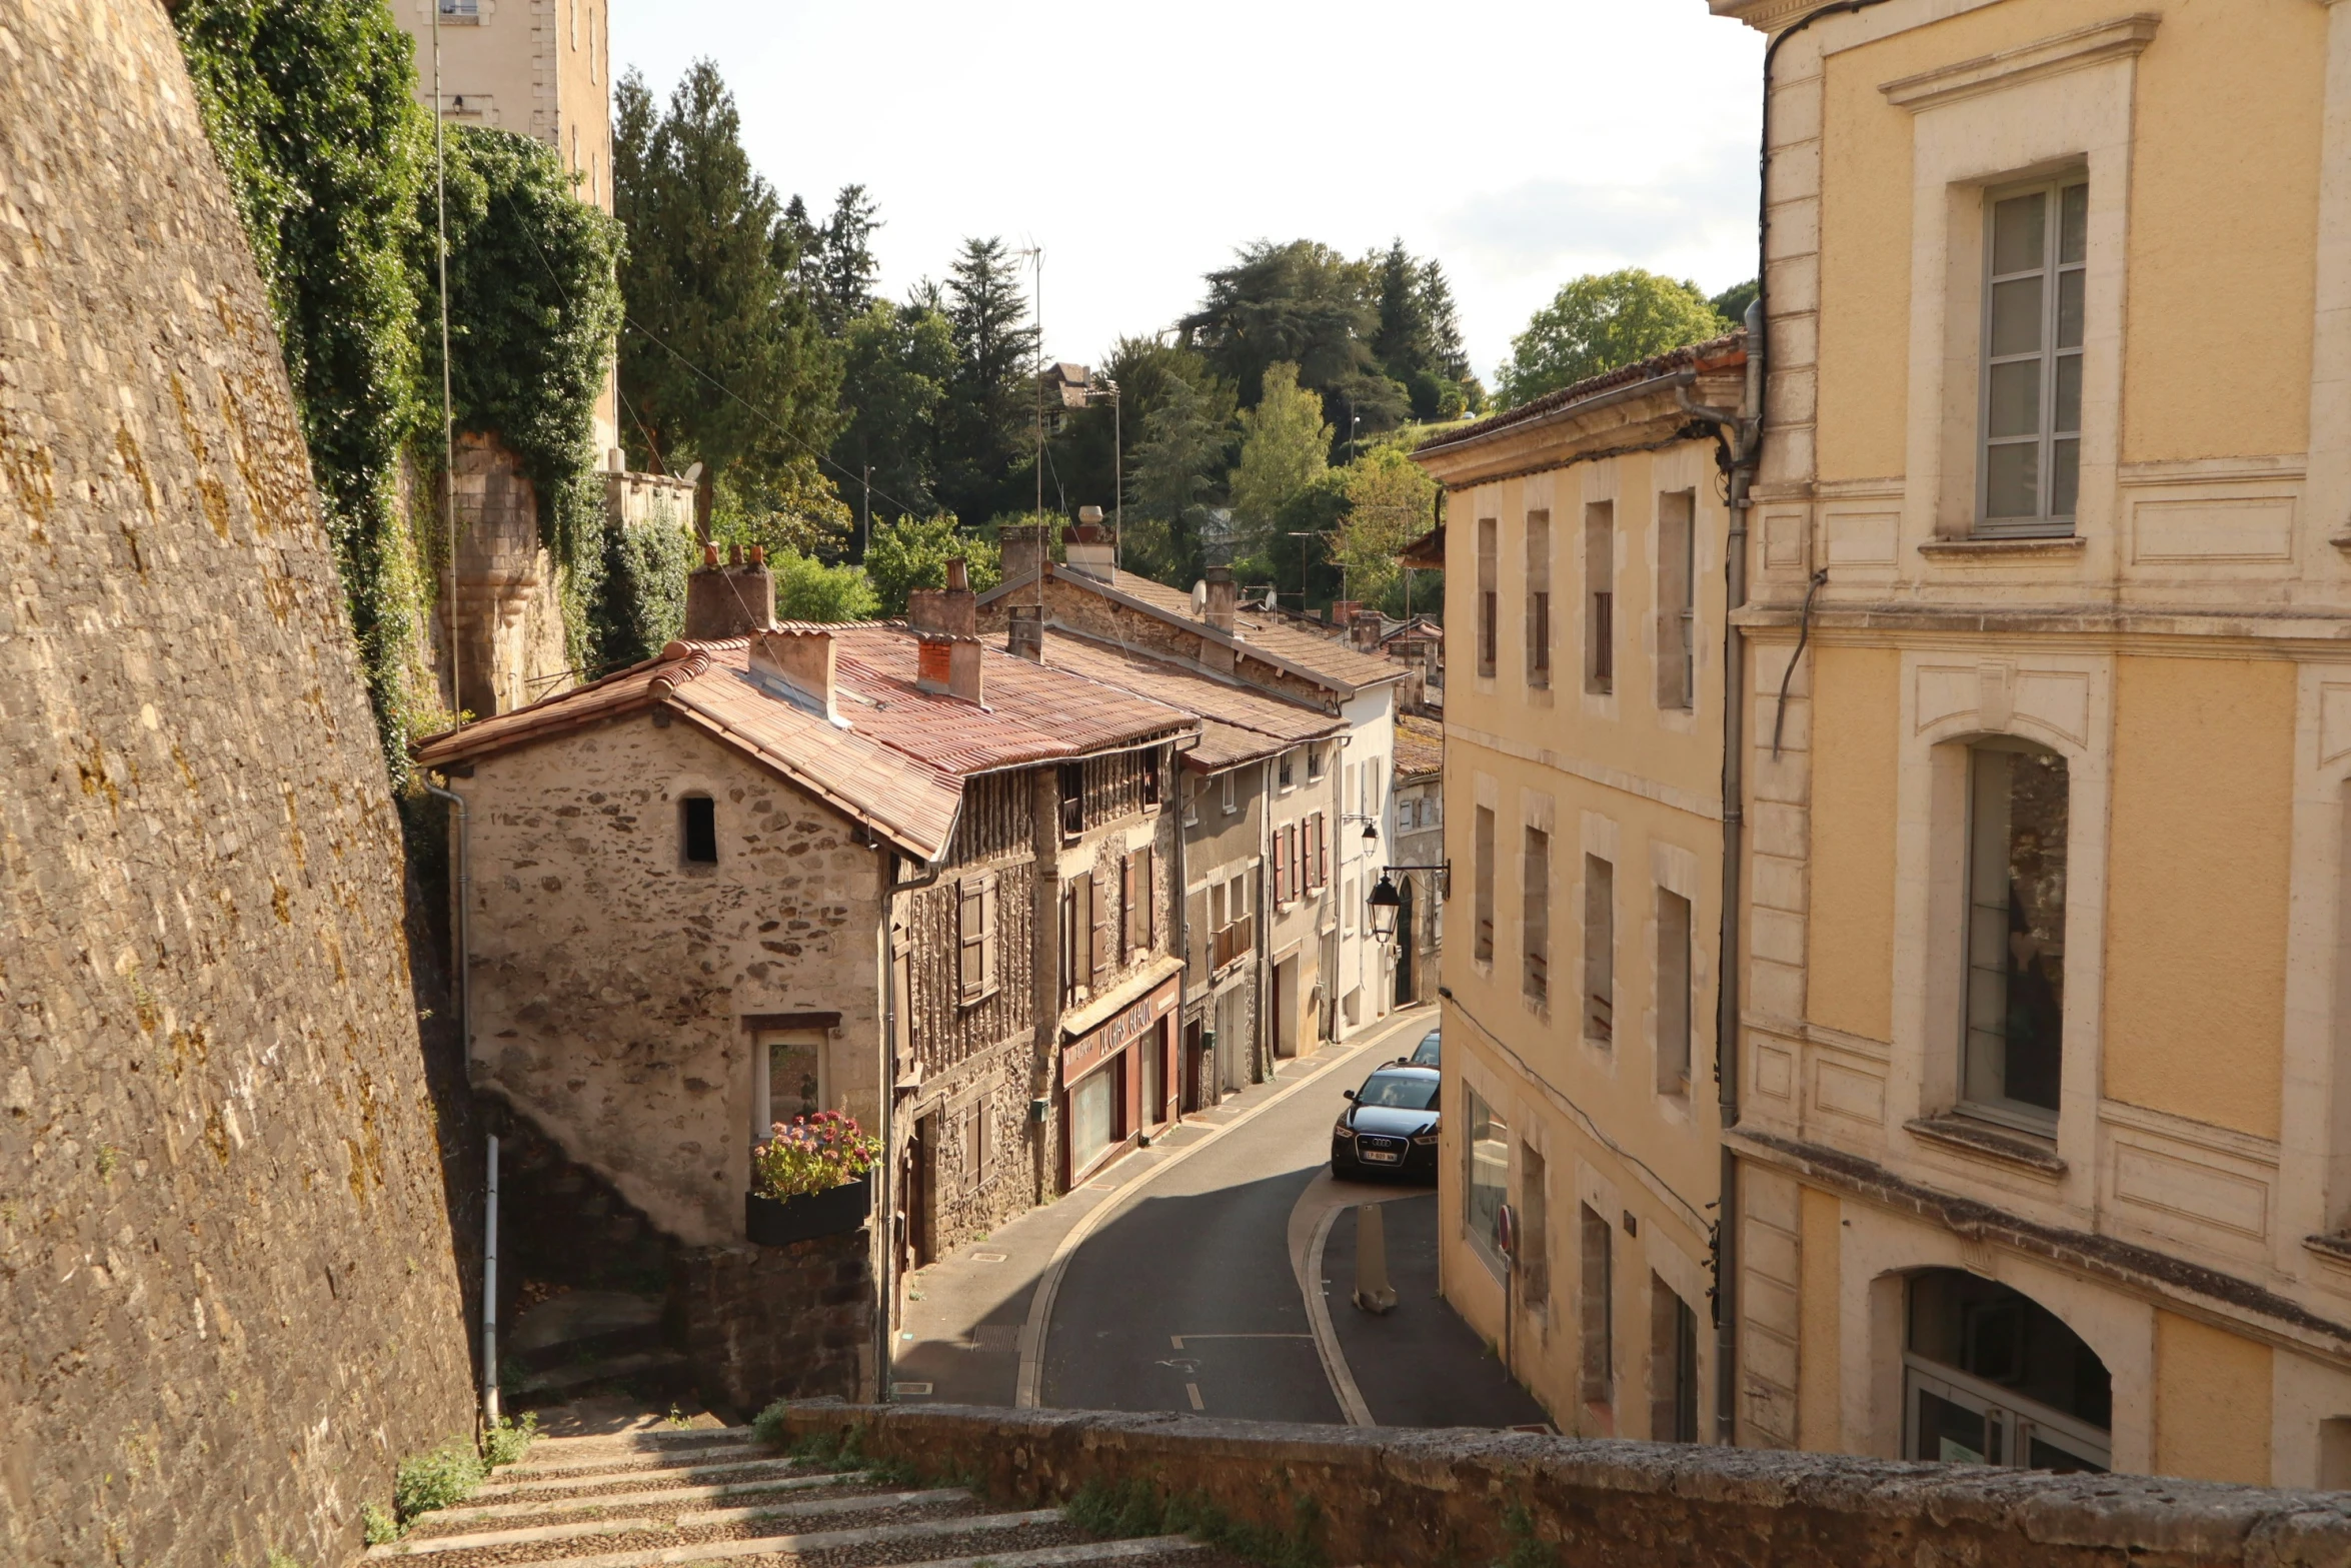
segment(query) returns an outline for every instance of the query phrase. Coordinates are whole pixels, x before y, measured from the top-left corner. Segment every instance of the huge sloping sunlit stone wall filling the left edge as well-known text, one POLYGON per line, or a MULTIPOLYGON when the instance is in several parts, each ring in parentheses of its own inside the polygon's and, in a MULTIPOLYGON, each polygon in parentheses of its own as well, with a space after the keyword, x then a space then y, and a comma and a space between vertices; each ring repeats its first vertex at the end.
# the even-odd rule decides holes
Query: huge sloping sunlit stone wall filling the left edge
POLYGON ((0 103, 0 1559, 346 1561, 473 1403, 400 825, 165 9, 0 103))

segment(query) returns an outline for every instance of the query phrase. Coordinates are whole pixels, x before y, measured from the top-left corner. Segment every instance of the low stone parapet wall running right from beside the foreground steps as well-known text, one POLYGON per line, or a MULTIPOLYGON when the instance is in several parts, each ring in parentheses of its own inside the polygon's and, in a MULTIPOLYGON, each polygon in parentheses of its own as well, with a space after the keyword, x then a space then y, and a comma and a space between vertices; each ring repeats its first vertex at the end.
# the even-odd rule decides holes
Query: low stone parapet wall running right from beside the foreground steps
POLYGON ((1331 1563, 2088 1568, 2351 1563, 2351 1493, 2052 1476, 1516 1432, 1293 1427, 1103 1410, 835 1406, 795 1436, 1053 1505, 1147 1483, 1331 1563), (1531 1540, 1528 1540, 1531 1537, 1531 1540))

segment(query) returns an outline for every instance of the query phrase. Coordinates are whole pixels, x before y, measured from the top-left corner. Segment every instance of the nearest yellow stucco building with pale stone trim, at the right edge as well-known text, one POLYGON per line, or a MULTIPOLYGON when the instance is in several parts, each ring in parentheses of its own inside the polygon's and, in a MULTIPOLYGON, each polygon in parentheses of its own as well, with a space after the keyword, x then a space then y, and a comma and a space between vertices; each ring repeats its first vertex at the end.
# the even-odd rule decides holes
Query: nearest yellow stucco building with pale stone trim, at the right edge
POLYGON ((1709 2, 1737 1439, 2351 1486, 2351 5, 1709 2))

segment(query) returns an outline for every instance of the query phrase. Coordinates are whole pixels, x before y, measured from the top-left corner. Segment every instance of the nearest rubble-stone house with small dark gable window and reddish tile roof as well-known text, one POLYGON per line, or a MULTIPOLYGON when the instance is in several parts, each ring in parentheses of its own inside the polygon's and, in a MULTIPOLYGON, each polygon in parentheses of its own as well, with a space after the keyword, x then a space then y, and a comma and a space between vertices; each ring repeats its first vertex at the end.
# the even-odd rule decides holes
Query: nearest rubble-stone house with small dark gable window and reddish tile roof
POLYGON ((682 1248, 689 1302, 773 1121, 886 1140, 889 1281, 1173 1114, 1197 722, 980 646, 969 590, 769 604, 705 567, 698 635, 416 752, 463 799, 473 1081, 682 1248))

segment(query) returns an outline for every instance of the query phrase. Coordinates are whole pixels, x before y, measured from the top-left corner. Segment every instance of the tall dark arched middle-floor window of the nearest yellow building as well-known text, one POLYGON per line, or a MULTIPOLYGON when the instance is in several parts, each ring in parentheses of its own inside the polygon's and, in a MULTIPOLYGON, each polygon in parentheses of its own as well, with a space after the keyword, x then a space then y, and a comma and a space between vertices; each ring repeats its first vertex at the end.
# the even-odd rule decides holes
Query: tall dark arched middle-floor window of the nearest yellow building
POLYGON ((1968 1110, 2057 1128, 2064 1056, 2064 757, 1968 752, 1968 1110))

